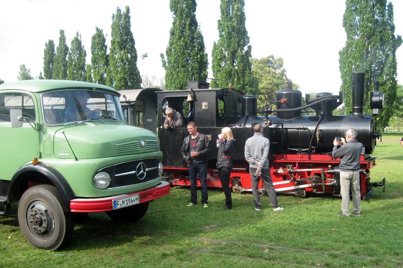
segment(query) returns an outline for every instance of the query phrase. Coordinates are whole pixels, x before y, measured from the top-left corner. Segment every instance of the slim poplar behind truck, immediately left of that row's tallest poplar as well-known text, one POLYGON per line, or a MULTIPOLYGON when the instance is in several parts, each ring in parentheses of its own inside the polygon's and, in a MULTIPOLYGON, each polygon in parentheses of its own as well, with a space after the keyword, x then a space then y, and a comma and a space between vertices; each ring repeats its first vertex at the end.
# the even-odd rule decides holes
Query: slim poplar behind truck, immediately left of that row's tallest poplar
MULTIPOLYGON (((107 48, 103 31, 96 27, 95 34, 91 38, 91 73, 94 83, 106 84, 106 70, 109 65, 107 48)), ((87 74, 87 81, 89 75, 87 74)))

